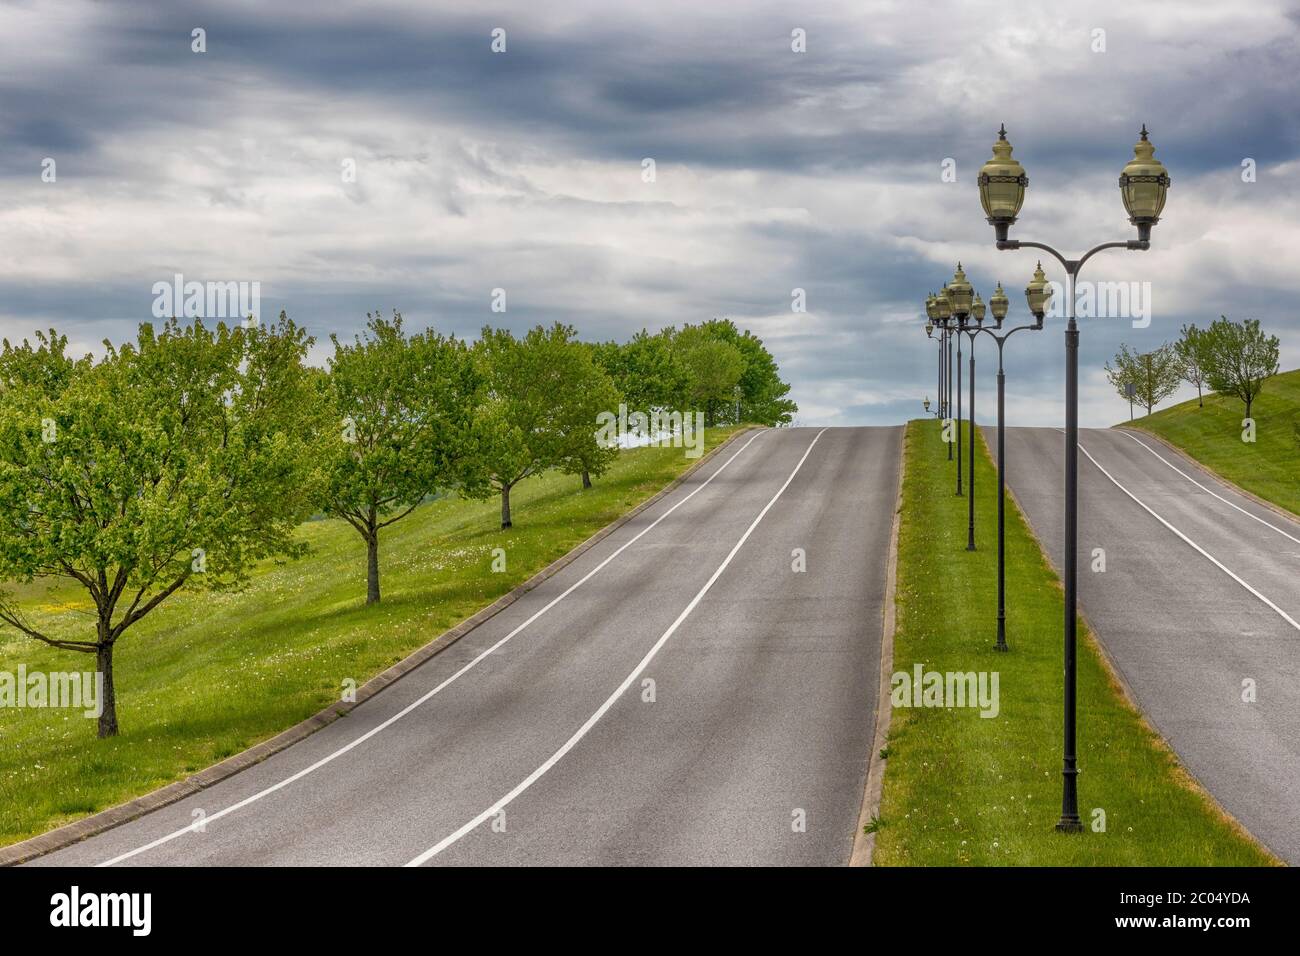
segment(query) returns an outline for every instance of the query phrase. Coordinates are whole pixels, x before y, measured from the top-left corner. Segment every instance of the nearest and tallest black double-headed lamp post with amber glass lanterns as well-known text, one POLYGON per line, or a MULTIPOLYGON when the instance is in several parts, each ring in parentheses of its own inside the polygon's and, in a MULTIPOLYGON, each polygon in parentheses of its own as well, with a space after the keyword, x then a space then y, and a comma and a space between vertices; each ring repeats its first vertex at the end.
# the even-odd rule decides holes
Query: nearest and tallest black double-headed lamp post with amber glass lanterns
POLYGON ((1119 173, 1119 194, 1128 212, 1128 221, 1136 226, 1138 238, 1122 242, 1104 242, 1093 246, 1078 259, 1066 259, 1041 242, 1020 242, 1009 239, 1008 233, 1015 224, 1024 203, 1024 190, 1030 185, 1024 166, 1011 157, 1011 144, 1006 139, 1006 127, 998 130, 993 143, 993 156, 984 164, 979 174, 979 198, 984 215, 993 226, 997 247, 1040 248, 1056 256, 1065 268, 1069 284, 1066 300, 1070 307, 1065 330, 1065 745, 1061 774, 1061 819, 1057 830, 1079 832, 1083 822, 1079 819, 1078 753, 1075 748, 1075 653, 1078 626, 1078 571, 1079 571, 1079 324, 1075 316, 1075 286, 1079 271, 1092 256, 1104 248, 1150 248, 1150 228, 1160 221, 1169 191, 1169 173, 1156 159, 1156 147, 1147 138, 1147 126, 1141 127, 1134 157, 1119 173))

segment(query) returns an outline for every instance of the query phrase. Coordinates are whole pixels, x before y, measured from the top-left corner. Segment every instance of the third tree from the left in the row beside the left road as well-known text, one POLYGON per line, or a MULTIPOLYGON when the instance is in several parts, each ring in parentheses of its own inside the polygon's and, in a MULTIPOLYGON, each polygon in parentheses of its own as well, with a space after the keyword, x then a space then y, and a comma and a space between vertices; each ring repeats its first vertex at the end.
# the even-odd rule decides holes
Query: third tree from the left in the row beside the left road
MULTIPOLYGON (((524 338, 507 329, 485 326, 476 346, 486 393, 473 424, 476 497, 500 496, 500 527, 514 522, 510 493, 524 479, 563 464, 572 454, 566 444, 566 402, 575 382, 573 329, 556 323, 538 325, 524 338)), ((595 434, 595 416, 589 429, 595 434)))

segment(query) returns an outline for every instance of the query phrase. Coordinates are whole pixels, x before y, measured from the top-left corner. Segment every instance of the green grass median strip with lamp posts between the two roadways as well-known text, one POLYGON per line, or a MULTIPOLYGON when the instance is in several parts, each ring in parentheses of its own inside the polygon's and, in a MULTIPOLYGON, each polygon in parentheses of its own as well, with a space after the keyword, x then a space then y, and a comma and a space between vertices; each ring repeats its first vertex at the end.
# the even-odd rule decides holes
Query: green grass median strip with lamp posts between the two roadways
POLYGON ((976 457, 976 542, 939 423, 913 421, 898 541, 893 671, 997 671, 1001 713, 894 708, 875 862, 881 865, 1265 865, 1127 705, 1091 636, 1079 645, 1079 813, 1058 834, 1063 596, 1008 503, 1010 653, 996 637, 997 476, 976 457), (1105 832, 1091 830, 1105 812, 1105 832))

